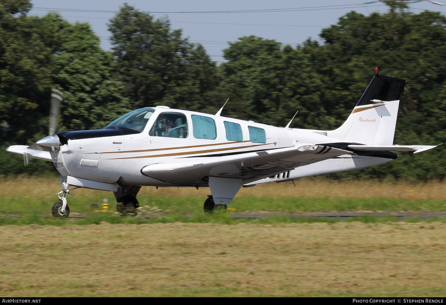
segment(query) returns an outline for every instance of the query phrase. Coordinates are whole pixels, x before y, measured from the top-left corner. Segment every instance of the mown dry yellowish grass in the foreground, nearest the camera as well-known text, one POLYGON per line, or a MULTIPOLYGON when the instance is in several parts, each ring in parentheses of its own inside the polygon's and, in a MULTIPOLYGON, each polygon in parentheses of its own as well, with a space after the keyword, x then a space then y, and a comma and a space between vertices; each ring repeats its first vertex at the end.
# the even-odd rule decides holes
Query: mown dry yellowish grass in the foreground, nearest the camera
POLYGON ((2 297, 444 297, 444 223, 0 226, 2 297))

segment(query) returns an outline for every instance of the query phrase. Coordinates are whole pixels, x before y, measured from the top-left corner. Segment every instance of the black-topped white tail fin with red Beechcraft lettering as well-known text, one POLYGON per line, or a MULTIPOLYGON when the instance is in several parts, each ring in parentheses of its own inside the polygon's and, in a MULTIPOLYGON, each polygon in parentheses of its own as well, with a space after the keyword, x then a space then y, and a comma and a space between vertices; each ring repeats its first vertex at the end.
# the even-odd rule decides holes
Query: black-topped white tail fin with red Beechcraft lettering
POLYGON ((378 74, 359 99, 350 116, 327 136, 367 145, 392 145, 396 115, 405 80, 378 74))

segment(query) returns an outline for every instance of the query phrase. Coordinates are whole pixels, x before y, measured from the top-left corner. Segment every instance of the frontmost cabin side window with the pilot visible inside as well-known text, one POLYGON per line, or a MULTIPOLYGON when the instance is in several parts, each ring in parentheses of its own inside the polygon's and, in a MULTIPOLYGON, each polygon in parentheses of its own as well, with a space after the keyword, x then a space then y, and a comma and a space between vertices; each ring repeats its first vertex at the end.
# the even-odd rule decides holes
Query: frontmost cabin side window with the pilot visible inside
POLYGON ((149 131, 149 136, 187 138, 187 135, 186 115, 178 112, 162 112, 149 131))

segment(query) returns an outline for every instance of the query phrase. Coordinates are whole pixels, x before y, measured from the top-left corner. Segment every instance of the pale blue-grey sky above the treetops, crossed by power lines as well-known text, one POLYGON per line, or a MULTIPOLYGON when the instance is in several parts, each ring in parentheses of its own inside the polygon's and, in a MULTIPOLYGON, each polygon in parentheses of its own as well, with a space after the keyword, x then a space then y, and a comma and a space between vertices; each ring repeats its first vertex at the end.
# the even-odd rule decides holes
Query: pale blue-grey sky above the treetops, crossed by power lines
MULTIPOLYGON (((321 29, 335 24, 340 16, 351 10, 365 15, 371 12, 386 12, 387 7, 381 2, 364 4, 372 0, 128 0, 134 8, 150 12, 156 17, 167 16, 172 29, 182 29, 183 37, 192 42, 201 43, 216 62, 224 59, 223 49, 227 41, 249 35, 274 39, 284 44, 296 46, 307 38, 319 41, 321 29), (197 11, 237 11, 262 9, 287 9, 278 12, 219 12, 186 13, 197 11), (165 13, 164 13, 165 12, 165 13), (182 13, 176 13, 182 12, 182 13)), ((118 11, 124 0, 32 0, 32 15, 45 15, 57 11, 67 21, 88 22, 96 35, 101 38, 101 47, 111 49, 107 30, 108 20, 114 12, 75 12, 62 9, 118 11), (34 9, 35 8, 35 9, 34 9)), ((438 0, 442 2, 442 0, 438 0)), ((443 2, 446 3, 446 0, 443 2)), ((446 6, 421 1, 409 4, 410 10, 419 13, 423 10, 446 12, 446 6)))

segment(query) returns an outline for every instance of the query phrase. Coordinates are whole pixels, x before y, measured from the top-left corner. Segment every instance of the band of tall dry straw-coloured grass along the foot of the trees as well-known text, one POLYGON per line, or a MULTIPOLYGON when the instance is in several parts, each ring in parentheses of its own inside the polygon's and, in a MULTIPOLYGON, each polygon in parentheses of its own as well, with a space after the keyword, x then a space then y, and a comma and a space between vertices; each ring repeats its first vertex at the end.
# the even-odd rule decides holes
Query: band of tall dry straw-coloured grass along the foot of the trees
MULTIPOLYGON (((333 181, 322 177, 303 178, 292 182, 265 183, 250 188, 241 188, 237 197, 255 198, 400 198, 432 200, 446 199, 446 182, 406 182, 406 181, 333 181)), ((50 177, 17 177, 0 182, 1 197, 51 196, 60 191, 58 179, 50 177)), ((82 196, 97 195, 97 190, 82 189, 76 194, 82 196)), ((206 197, 211 194, 209 188, 159 188, 142 187, 139 196, 170 195, 178 197, 206 197)))

